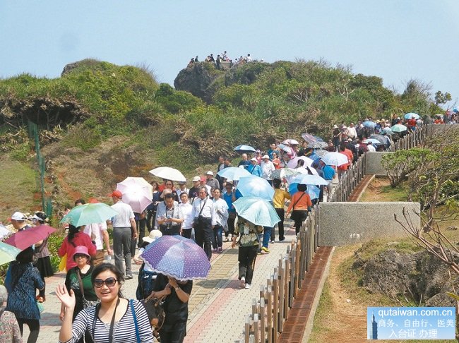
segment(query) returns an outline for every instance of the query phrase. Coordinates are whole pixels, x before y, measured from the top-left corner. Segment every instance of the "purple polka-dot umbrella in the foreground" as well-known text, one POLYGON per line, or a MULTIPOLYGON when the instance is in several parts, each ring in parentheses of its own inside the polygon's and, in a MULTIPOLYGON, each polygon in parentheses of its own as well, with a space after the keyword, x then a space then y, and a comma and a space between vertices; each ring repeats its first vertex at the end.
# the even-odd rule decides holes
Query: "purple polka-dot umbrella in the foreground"
POLYGON ((182 236, 162 236, 148 244, 140 255, 155 272, 179 281, 205 279, 210 262, 203 249, 182 236))

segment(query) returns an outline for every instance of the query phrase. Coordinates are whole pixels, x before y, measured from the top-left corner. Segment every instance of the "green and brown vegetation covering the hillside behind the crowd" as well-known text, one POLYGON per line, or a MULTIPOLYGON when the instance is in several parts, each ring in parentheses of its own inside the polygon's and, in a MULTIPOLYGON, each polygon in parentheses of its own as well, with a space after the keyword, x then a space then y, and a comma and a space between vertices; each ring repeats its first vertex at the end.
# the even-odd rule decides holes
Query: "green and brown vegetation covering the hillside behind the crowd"
MULTIPOLYGON (((419 81, 396 94, 381 78, 323 61, 254 62, 229 71, 199 63, 175 85, 158 84, 145 67, 92 59, 69 64, 60 78, 0 80, 0 149, 6 161, 33 167, 27 122, 35 122, 47 191, 60 203, 78 193, 100 196, 159 165, 192 176, 241 143, 265 148, 306 131, 328 138, 342 121, 430 114, 433 106, 419 81)), ((16 206, 14 196, 9 202, 16 206)))

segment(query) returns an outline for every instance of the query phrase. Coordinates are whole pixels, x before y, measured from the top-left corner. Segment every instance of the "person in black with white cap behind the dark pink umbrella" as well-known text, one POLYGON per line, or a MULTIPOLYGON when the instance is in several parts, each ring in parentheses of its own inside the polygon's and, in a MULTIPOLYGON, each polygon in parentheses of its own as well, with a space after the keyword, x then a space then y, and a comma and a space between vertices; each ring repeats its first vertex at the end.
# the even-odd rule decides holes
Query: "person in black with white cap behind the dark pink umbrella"
MULTIPOLYGON (((35 226, 42 225, 47 220, 47 215, 44 212, 35 212, 32 217, 32 223, 35 226)), ((37 259, 35 262, 35 267, 40 272, 42 280, 46 285, 46 281, 44 280, 45 277, 50 277, 54 275, 54 271, 51 265, 51 259, 49 258, 49 249, 48 249, 48 239, 44 239, 43 241, 39 241, 35 243, 35 251, 34 251, 34 260, 37 259)), ((37 301, 39 303, 43 303, 46 301, 46 296, 44 294, 46 287, 40 289, 40 292, 37 295, 37 301)))

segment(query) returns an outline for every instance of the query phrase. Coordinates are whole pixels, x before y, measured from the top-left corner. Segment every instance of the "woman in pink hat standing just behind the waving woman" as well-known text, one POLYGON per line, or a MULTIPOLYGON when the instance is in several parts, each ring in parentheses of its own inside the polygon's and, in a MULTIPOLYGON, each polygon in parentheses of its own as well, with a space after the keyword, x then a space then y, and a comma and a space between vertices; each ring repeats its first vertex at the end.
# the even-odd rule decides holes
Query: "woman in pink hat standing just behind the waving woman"
MULTIPOLYGON (((72 315, 72 320, 75 320, 76 315, 78 315, 83 308, 87 307, 88 304, 94 304, 98 299, 94 291, 93 283, 91 282, 91 274, 93 273, 94 267, 89 265, 91 256, 88 253, 88 248, 85 246, 76 246, 72 259, 76 262, 76 267, 68 270, 65 285, 67 291, 72 290, 73 294, 75 294, 75 308, 72 315)), ((61 320, 64 320, 65 313, 66 308, 64 303, 62 303, 61 314, 59 315, 61 320)), ((88 331, 85 332, 84 341, 86 343, 93 342, 88 331)), ((78 342, 83 343, 83 337, 81 337, 78 342)))

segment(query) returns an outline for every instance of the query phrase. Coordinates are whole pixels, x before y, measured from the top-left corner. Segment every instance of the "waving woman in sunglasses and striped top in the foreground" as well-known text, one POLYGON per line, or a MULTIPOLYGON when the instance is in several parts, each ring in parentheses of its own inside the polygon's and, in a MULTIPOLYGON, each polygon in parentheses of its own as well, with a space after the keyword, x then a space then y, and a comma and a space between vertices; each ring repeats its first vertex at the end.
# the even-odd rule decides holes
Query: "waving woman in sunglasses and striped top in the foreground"
POLYGON ((86 330, 95 342, 153 342, 145 307, 140 301, 124 299, 121 294, 124 275, 117 267, 111 263, 97 265, 91 281, 100 304, 83 309, 73 325, 75 294, 73 290, 68 293, 64 284, 56 288, 56 295, 66 308, 59 342, 76 343, 86 330))

